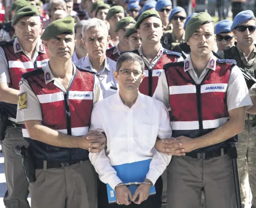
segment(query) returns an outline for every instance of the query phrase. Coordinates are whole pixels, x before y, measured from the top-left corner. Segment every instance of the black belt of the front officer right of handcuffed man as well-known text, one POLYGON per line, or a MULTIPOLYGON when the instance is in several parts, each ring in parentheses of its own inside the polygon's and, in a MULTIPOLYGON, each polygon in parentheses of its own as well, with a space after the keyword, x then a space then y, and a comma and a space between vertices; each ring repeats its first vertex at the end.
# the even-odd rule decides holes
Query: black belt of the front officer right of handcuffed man
POLYGON ((218 150, 209 151, 209 152, 188 152, 186 153, 186 156, 192 157, 194 159, 209 159, 213 157, 219 157, 221 155, 228 154, 228 148, 224 147, 218 150))

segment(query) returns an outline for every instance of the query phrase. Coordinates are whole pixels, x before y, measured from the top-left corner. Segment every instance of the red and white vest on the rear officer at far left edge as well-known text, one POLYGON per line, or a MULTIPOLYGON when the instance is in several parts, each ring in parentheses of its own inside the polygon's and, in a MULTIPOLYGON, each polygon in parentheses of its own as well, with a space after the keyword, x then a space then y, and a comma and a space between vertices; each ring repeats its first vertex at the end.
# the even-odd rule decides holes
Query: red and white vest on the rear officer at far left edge
MULTIPOLYGON (((49 61, 49 53, 44 49, 43 44, 40 45, 40 51, 46 50, 46 53, 38 52, 38 57, 35 63, 30 60, 23 52, 14 53, 13 40, 1 44, 5 51, 6 59, 8 61, 9 74, 10 74, 10 87, 19 90, 19 82, 22 74, 39 69, 46 65, 49 61)), ((19 43, 17 43, 19 44, 19 43)), ((17 45, 20 47, 20 44, 17 45)))

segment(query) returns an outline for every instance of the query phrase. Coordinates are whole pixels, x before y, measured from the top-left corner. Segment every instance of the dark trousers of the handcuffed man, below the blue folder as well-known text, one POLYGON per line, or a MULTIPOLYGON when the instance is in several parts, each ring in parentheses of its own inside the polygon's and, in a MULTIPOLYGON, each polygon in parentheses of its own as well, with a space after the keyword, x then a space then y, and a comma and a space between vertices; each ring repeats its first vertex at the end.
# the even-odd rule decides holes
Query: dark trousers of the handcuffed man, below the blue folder
POLYGON ((130 205, 119 205, 117 203, 109 204, 108 194, 107 194, 107 185, 102 183, 100 180, 98 188, 98 208, 160 208, 162 202, 162 189, 163 182, 162 177, 156 181, 155 188, 156 194, 149 196, 146 201, 143 201, 141 204, 134 204, 133 202, 130 205))

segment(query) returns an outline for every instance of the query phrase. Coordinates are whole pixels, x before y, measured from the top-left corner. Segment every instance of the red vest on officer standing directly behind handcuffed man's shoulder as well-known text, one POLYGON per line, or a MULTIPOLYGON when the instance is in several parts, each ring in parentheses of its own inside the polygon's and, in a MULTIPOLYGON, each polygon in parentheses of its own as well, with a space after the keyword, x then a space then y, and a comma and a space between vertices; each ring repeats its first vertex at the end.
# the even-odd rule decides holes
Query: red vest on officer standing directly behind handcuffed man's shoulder
MULTIPOLYGON (((139 54, 138 50, 135 51, 135 53, 139 54)), ((160 76, 161 72, 163 71, 163 65, 170 63, 170 62, 177 62, 177 60, 180 56, 181 56, 181 54, 179 54, 179 53, 168 51, 168 50, 164 49, 163 54, 158 59, 156 65, 153 67, 153 69, 148 69, 145 66, 145 69, 144 69, 145 77, 139 87, 139 91, 142 94, 152 97, 156 90, 156 87, 157 87, 158 77, 160 76)))

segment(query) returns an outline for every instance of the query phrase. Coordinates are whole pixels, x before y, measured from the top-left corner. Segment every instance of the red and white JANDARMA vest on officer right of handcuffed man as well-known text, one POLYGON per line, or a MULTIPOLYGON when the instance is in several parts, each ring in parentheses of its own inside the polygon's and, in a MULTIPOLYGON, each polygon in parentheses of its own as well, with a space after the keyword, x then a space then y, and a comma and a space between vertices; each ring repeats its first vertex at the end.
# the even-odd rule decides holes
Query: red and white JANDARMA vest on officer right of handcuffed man
MULTIPOLYGON (((217 60, 216 70, 209 70, 201 84, 195 84, 190 74, 184 71, 184 61, 164 66, 169 87, 172 137, 196 138, 227 122, 227 87, 233 67, 230 60, 217 60)), ((222 145, 219 143, 195 151, 213 150, 222 145)))

